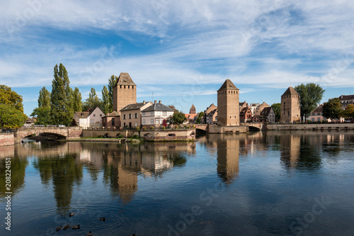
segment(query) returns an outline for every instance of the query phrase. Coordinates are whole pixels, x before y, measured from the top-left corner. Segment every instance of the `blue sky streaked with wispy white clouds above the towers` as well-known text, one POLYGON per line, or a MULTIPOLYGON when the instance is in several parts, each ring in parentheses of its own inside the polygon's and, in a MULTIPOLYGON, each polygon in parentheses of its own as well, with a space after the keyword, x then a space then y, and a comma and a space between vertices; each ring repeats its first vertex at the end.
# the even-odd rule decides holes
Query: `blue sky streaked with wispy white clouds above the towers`
POLYGON ((185 113, 217 105, 231 79, 240 101, 280 102, 289 86, 354 94, 354 1, 1 0, 0 84, 26 115, 62 63, 83 100, 127 72, 137 101, 185 113))

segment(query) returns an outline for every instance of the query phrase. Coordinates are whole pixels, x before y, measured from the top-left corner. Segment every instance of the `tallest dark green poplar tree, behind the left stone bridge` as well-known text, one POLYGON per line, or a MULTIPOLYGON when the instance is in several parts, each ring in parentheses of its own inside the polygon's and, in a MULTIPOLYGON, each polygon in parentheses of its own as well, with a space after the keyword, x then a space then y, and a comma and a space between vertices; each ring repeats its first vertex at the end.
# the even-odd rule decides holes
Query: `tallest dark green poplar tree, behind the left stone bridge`
POLYGON ((72 89, 69 86, 67 69, 62 63, 54 67, 52 94, 50 96, 50 115, 52 123, 67 125, 74 115, 72 89))

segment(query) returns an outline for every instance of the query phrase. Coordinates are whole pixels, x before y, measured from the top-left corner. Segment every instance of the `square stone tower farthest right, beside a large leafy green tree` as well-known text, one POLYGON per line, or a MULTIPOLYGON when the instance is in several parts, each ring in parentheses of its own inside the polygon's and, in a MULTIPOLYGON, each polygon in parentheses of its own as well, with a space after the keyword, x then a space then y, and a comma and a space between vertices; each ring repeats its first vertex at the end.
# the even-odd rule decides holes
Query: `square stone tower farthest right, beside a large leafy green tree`
POLYGON ((300 118, 300 95, 294 88, 289 87, 285 93, 282 94, 280 122, 299 122, 300 118))

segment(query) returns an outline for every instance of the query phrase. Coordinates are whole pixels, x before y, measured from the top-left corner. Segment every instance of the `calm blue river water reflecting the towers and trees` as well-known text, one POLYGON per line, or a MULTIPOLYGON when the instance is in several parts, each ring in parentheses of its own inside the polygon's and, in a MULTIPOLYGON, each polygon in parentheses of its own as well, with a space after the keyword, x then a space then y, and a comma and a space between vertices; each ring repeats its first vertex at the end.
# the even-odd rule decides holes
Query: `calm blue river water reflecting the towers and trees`
POLYGON ((0 235, 354 235, 353 152, 352 131, 0 147, 0 235))

